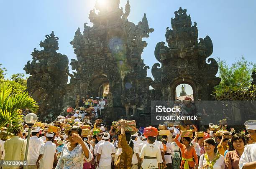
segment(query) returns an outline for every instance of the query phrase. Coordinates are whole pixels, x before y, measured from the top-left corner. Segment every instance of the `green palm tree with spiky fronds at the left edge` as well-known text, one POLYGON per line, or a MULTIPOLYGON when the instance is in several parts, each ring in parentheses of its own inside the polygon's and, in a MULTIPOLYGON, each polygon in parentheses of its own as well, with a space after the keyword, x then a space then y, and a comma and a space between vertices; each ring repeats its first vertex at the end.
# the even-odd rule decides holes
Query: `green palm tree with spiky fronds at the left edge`
POLYGON ((0 129, 7 126, 7 136, 22 127, 22 109, 29 108, 32 112, 38 110, 36 101, 28 92, 11 94, 12 86, 4 83, 0 88, 0 129))

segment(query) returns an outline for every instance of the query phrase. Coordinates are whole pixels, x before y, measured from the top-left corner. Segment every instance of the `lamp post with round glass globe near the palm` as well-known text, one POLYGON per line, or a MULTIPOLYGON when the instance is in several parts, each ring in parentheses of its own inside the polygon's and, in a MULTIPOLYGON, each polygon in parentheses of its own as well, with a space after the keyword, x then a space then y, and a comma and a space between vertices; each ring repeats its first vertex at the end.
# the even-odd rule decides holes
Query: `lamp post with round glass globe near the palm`
MULTIPOLYGON (((27 138, 27 145, 26 145, 26 152, 25 152, 25 159, 24 161, 27 161, 27 157, 28 157, 28 145, 29 145, 29 138, 30 138, 30 133, 31 133, 31 127, 36 123, 37 121, 37 116, 34 113, 29 113, 27 114, 27 116, 25 117, 25 121, 28 125, 28 138, 27 138)), ((24 166, 24 168, 26 169, 27 167, 24 166)))

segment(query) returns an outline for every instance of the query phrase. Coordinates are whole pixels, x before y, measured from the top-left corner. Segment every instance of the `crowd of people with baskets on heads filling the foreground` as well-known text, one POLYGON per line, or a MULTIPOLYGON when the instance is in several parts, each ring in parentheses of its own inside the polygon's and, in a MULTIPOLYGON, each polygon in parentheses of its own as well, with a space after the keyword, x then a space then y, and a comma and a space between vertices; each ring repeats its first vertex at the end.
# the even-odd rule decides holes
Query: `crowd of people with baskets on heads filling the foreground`
MULTIPOLYGON (((256 169, 255 120, 245 122, 244 133, 227 125, 198 131, 179 123, 129 130, 126 120, 108 127, 102 119, 81 120, 73 108, 67 112, 49 124, 34 124, 26 169, 256 169)), ((20 168, 6 162, 24 161, 28 126, 13 136, 6 129, 0 134, 0 169, 20 168)))

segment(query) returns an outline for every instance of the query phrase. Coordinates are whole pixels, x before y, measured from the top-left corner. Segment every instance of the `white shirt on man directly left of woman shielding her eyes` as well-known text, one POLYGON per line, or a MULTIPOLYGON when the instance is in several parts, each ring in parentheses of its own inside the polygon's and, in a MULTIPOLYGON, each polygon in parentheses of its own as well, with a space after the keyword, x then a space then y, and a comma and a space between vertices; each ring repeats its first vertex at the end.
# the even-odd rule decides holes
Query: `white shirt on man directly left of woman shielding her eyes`
POLYGON ((40 146, 39 154, 43 154, 43 156, 40 159, 39 169, 52 169, 55 152, 56 145, 51 141, 46 141, 40 146))

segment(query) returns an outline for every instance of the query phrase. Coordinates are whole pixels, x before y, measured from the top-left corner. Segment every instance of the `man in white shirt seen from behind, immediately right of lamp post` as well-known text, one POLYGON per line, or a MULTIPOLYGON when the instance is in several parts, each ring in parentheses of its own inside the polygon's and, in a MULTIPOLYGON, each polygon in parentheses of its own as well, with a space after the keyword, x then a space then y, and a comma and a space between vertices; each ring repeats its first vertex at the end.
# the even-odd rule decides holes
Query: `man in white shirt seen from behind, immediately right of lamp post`
MULTIPOLYGON (((26 168, 27 169, 36 169, 36 160, 39 156, 40 146, 44 143, 44 141, 38 138, 40 132, 40 127, 37 127, 32 130, 32 137, 29 139, 29 146, 28 146, 28 163, 26 168)), ((25 145, 27 145, 28 139, 25 140, 25 145)))

